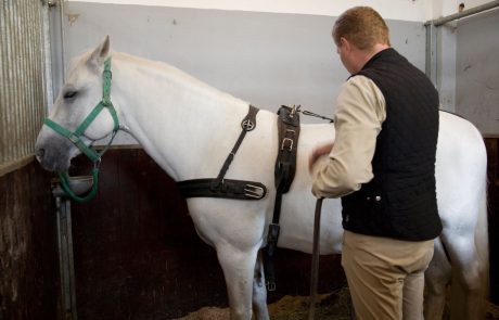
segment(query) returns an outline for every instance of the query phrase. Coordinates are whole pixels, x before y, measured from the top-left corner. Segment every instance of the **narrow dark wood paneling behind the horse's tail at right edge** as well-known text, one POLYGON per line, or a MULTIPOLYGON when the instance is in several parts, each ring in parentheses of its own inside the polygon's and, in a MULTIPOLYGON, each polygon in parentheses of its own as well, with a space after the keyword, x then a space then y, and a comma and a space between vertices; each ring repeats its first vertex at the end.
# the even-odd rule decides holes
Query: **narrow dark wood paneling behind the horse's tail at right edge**
POLYGON ((490 300, 499 305, 499 138, 485 138, 488 162, 490 300))

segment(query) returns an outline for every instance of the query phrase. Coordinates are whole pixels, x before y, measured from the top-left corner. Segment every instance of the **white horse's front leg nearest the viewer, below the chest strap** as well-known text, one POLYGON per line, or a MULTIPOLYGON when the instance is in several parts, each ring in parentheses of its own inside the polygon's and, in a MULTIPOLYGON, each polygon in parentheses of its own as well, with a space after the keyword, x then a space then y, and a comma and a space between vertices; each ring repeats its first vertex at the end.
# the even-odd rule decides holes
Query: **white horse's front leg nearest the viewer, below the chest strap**
POLYGON ((226 278, 230 319, 252 319, 253 276, 258 248, 242 251, 229 243, 217 246, 218 261, 226 278))

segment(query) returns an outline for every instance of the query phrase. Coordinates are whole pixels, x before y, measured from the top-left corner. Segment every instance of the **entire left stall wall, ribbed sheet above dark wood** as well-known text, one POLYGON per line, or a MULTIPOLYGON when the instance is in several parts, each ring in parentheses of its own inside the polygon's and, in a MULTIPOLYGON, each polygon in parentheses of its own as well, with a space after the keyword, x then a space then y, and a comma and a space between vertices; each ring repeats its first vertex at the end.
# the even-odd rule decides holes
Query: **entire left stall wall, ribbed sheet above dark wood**
POLYGON ((51 175, 34 162, 49 102, 48 2, 0 4, 0 319, 59 319, 51 175))

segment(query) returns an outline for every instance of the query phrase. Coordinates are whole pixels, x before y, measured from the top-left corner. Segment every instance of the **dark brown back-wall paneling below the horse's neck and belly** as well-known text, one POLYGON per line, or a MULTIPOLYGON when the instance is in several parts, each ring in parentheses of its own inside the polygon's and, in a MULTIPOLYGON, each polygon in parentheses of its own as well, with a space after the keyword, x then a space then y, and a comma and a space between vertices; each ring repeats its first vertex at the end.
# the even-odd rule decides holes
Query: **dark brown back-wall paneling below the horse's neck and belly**
MULTIPOLYGON (((89 169, 85 158, 75 164, 89 169)), ((142 150, 111 150, 101 167, 97 199, 72 205, 78 319, 171 319, 227 306, 216 253, 196 235, 175 182, 142 150)), ((308 295, 310 255, 280 249, 276 268, 270 302, 308 295)), ((320 291, 344 281, 338 257, 321 258, 320 291)))

